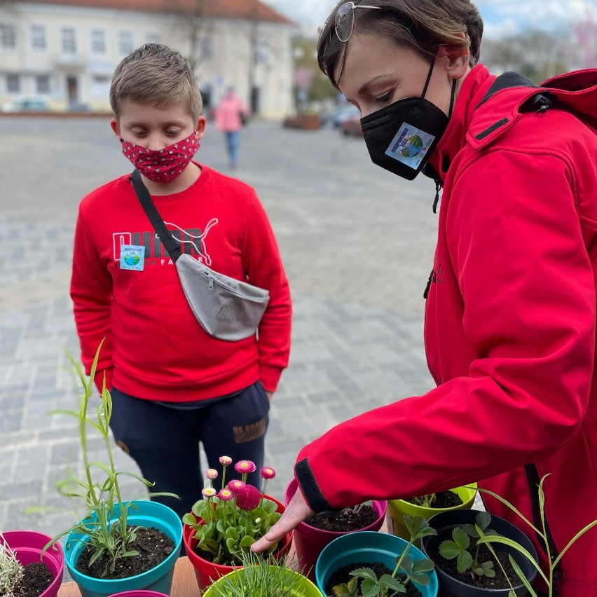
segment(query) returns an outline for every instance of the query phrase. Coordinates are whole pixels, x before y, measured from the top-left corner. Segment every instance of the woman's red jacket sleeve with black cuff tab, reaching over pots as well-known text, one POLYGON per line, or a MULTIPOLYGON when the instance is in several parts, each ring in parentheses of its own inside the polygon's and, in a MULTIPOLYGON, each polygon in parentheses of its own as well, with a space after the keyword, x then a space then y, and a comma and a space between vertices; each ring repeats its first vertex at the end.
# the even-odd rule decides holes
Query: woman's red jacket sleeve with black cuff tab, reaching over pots
POLYGON ((496 151, 455 181, 446 232, 469 370, 303 448, 295 474, 313 509, 481 481, 577 432, 596 313, 573 178, 564 158, 496 151))

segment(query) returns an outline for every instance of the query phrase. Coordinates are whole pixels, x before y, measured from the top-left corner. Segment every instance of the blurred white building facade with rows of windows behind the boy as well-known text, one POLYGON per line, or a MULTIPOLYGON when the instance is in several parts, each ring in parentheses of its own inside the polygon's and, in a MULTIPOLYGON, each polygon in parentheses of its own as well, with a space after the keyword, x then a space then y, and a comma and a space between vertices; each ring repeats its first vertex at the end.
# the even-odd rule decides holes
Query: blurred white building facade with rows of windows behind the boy
POLYGON ((207 107, 234 85, 258 114, 289 114, 294 25, 257 0, 223 2, 228 6, 221 16, 222 0, 205 1, 210 14, 196 12, 192 18, 172 13, 172 0, 154 0, 152 12, 143 10, 142 0, 0 2, 0 104, 43 97, 58 111, 83 103, 109 112, 118 62, 142 44, 157 42, 193 64, 207 107), (235 6, 247 1, 260 5, 256 16, 235 15, 235 6), (135 4, 139 8, 130 10, 135 4))

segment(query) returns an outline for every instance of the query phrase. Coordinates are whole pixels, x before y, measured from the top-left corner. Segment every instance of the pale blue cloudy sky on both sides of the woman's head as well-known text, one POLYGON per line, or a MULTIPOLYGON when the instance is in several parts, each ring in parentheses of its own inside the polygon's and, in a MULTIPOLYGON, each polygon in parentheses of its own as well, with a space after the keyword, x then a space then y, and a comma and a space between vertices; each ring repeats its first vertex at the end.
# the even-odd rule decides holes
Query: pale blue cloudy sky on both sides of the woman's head
MULTIPOLYGON (((303 27, 317 34, 336 0, 262 0, 303 27)), ((485 36, 519 31, 528 25, 554 30, 570 18, 582 18, 587 8, 597 18, 597 0, 476 0, 485 23, 485 36)))

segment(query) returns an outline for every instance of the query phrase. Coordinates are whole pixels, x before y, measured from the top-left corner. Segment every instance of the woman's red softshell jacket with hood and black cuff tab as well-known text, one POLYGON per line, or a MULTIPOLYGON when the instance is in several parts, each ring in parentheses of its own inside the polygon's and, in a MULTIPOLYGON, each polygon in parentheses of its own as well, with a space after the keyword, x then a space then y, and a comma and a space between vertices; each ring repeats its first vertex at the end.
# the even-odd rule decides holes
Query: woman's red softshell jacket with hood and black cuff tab
MULTIPOLYGON (((432 156, 445 183, 425 315, 438 386, 334 427, 295 472, 317 510, 480 481, 530 519, 551 473, 561 552, 597 519, 597 137, 557 103, 519 114, 524 89, 476 109, 494 78, 468 74, 432 156)), ((594 107, 597 88, 585 95, 594 107)), ((485 502, 535 540, 545 569, 533 531, 485 502)), ((559 596, 595 597, 596 562, 593 529, 563 556, 559 596)))

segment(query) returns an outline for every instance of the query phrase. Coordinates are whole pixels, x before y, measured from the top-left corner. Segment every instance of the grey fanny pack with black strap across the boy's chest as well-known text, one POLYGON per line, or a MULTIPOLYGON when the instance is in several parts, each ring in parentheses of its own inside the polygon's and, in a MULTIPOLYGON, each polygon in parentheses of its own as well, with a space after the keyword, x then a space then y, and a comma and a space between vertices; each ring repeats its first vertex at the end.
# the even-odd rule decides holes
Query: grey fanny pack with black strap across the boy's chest
POLYGON ((153 205, 138 170, 132 173, 132 186, 151 225, 176 264, 184 296, 201 327, 220 340, 237 341, 254 336, 268 306, 270 293, 217 273, 183 253, 153 205))

